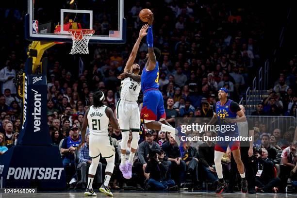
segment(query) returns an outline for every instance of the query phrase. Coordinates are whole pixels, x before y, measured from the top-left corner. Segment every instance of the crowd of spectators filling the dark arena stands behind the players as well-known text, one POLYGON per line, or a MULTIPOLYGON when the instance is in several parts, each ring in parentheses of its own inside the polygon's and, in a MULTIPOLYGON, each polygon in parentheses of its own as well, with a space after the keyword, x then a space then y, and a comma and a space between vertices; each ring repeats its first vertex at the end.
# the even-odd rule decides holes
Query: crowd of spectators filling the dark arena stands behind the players
MULTIPOLYGON (((138 36, 142 25, 138 13, 143 8, 149 8, 154 13, 154 46, 162 51, 162 56, 158 60, 160 90, 163 93, 166 120, 173 126, 177 117, 212 117, 212 106, 217 101, 217 90, 221 87, 228 88, 230 98, 238 101, 252 79, 253 71, 262 64, 261 43, 264 39, 264 27, 261 21, 262 14, 255 7, 251 9, 248 4, 234 5, 225 0, 125 2, 128 31, 125 45, 90 45, 90 54, 79 58, 66 55, 68 49, 61 46, 47 51, 49 133, 53 144, 61 148, 67 173, 68 169, 72 168, 72 172, 70 170, 71 173, 68 174, 68 178, 71 179, 70 182, 67 181, 69 183, 74 183, 78 178, 73 171, 73 168, 77 167, 68 165, 75 164, 75 151, 80 142, 78 134, 84 112, 92 105, 92 93, 96 90, 103 91, 106 96, 104 104, 115 110, 120 87, 120 81, 116 77, 123 71, 138 36), (75 60, 83 62, 83 66, 80 64, 80 68, 83 67, 81 71, 73 69, 79 68, 76 66, 79 63, 75 60), (75 144, 67 144, 70 139, 74 139, 75 144)), ((0 18, 5 23, 2 25, 5 29, 0 29, 0 37, 6 38, 3 39, 4 45, 0 49, 0 53, 4 55, 0 62, 0 155, 7 148, 17 144, 21 128, 22 104, 16 96, 13 78, 18 70, 24 68, 26 60, 28 42, 23 39, 25 10, 25 7, 0 8, 0 18)), ((107 17, 104 19, 104 26, 108 23, 110 21, 107 17)), ((147 44, 143 40, 135 60, 141 68, 144 67, 146 53, 147 44)), ((273 89, 269 90, 269 97, 257 105, 257 111, 252 115, 296 117, 296 64, 295 56, 288 66, 283 67, 280 78, 273 89)), ((138 102, 141 108, 142 94, 138 102)), ((254 146, 262 147, 264 154, 256 155, 254 163, 262 163, 263 167, 269 166, 265 168, 263 175, 256 176, 259 191, 270 192, 274 187, 283 190, 284 186, 281 186, 279 181, 286 183, 288 177, 292 177, 292 180, 297 178, 297 145, 292 145, 293 139, 296 140, 295 126, 282 131, 278 128, 271 129, 267 123, 255 123, 255 127, 254 146), (271 162, 267 162, 267 158, 271 162), (269 178, 266 178, 267 175, 269 178), (278 177, 280 179, 276 179, 278 177)), ((165 132, 142 129, 138 153, 132 168, 135 180, 128 181, 121 176, 117 156, 111 187, 145 188, 144 183, 148 179, 146 187, 152 190, 176 190, 177 186, 185 190, 189 180, 198 189, 205 189, 205 183, 206 186, 209 183, 210 188, 214 188, 217 180, 214 142, 191 142, 181 151, 174 139, 165 132), (162 148, 163 152, 158 154, 158 157, 148 158, 151 148, 162 148), (156 174, 157 170, 154 168, 157 162, 162 164, 161 177, 156 174), (202 184, 199 181, 204 182, 202 184)), ((108 131, 114 146, 120 150, 121 132, 113 130, 112 127, 108 131)), ((216 136, 215 132, 192 133, 216 136)), ((85 182, 83 174, 86 174, 90 164, 89 156, 86 154, 87 144, 79 152, 78 168, 82 172, 82 184, 85 182)), ((228 172, 230 158, 225 156, 223 161, 226 164, 224 170, 228 172)), ((98 183, 102 182, 104 177, 105 165, 106 162, 101 159, 98 183)), ((257 170, 255 175, 256 173, 257 170)), ((226 171, 225 174, 228 175, 226 171)))

